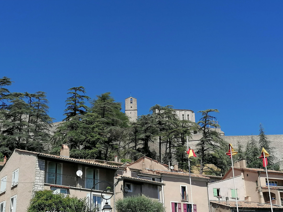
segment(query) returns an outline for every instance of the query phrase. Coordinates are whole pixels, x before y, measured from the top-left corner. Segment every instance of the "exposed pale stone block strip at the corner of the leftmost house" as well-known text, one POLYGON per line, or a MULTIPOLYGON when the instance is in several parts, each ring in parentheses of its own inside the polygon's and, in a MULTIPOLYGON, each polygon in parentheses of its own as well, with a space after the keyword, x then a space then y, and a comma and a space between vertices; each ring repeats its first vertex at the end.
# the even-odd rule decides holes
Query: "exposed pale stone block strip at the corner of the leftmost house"
POLYGON ((44 189, 44 170, 45 160, 37 158, 37 164, 35 168, 35 182, 33 183, 33 194, 35 191, 44 189))

